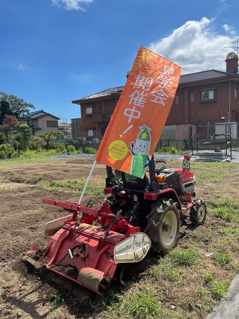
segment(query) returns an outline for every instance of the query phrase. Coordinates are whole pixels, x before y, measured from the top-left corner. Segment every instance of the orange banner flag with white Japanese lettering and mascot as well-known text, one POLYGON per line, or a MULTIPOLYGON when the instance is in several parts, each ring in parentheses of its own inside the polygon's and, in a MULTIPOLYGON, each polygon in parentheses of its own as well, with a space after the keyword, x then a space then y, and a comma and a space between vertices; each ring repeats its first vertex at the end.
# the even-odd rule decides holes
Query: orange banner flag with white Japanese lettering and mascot
POLYGON ((143 178, 167 120, 181 67, 140 48, 96 161, 143 178))

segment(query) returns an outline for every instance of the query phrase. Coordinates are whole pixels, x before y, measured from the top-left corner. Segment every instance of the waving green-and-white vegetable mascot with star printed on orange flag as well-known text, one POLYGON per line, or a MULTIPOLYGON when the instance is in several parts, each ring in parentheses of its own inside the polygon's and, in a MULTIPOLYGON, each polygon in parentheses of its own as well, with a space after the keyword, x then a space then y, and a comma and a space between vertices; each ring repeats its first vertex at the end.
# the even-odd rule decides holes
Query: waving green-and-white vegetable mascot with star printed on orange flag
POLYGON ((136 143, 131 142, 131 154, 133 156, 131 162, 131 174, 143 178, 146 168, 150 162, 148 157, 150 150, 151 137, 147 126, 140 126, 141 131, 136 139, 136 143))

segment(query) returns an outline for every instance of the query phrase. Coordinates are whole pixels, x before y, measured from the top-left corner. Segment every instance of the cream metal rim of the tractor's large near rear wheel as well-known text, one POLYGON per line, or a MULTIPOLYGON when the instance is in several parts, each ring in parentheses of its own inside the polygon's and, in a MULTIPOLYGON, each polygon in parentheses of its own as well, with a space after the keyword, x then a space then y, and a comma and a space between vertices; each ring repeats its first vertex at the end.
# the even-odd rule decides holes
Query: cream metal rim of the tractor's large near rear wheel
POLYGON ((161 225, 161 239, 165 246, 170 245, 177 234, 177 217, 174 211, 167 211, 163 217, 161 225), (166 231, 166 226, 169 225, 169 229, 166 231))

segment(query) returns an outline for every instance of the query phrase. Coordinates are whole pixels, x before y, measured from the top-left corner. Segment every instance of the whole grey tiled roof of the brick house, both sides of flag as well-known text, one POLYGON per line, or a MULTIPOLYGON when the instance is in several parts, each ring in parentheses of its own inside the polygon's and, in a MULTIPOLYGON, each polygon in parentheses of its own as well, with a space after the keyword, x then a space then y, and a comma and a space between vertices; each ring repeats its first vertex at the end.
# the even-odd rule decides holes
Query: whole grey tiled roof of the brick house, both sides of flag
MULTIPOLYGON (((218 71, 218 70, 207 70, 207 71, 200 71, 196 73, 183 74, 180 76, 179 84, 195 82, 200 80, 208 80, 212 78, 220 78, 220 77, 225 77, 227 75, 232 75, 232 73, 218 71)), ((111 95, 112 93, 117 93, 117 92, 121 93, 123 88, 124 86, 112 87, 111 89, 107 89, 107 90, 86 96, 82 98, 81 100, 91 100, 94 98, 108 96, 108 95, 111 95)))

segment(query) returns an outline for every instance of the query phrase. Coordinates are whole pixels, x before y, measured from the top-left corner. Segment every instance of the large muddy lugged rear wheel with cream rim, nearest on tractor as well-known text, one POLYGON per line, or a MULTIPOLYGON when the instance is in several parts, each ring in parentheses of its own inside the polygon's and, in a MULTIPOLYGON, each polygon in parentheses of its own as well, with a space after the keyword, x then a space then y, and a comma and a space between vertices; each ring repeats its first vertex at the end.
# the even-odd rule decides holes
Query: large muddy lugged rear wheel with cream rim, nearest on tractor
POLYGON ((172 199, 160 200, 151 206, 147 219, 145 233, 151 239, 151 247, 164 256, 176 246, 180 235, 181 221, 177 203, 173 203, 172 199))

